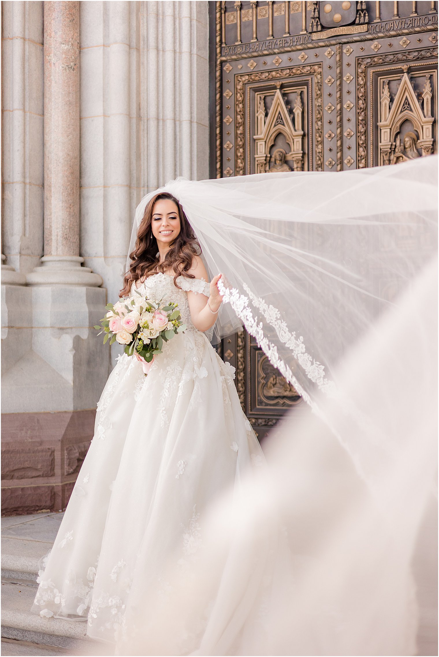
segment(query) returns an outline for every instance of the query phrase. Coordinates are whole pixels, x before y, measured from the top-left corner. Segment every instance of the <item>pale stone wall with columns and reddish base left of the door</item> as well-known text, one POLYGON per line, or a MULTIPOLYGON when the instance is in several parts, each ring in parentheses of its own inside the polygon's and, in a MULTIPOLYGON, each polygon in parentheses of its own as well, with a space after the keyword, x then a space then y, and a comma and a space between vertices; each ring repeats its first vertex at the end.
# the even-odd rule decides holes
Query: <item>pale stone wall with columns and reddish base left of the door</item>
POLYGON ((206 2, 3 3, 2 512, 63 509, 142 196, 208 177, 206 2))

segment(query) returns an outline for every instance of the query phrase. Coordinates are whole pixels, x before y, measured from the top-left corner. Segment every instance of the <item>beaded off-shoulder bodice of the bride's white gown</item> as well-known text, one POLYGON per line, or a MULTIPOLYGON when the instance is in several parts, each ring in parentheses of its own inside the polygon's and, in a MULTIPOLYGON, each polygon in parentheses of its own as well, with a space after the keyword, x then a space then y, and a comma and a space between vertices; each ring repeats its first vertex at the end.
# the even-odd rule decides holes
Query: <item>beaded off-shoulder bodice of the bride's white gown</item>
MULTIPOLYGON (((187 279, 184 276, 177 278, 177 288, 173 283, 173 276, 164 273, 152 274, 146 281, 139 284, 137 290, 141 294, 145 294, 152 301, 160 301, 166 299, 178 304, 181 317, 187 328, 195 329, 191 320, 191 311, 189 309, 189 302, 187 300, 187 292, 195 292, 195 294, 204 294, 210 296, 209 283, 204 279, 187 279)), ((131 286, 130 298, 135 298, 135 283, 131 286)))

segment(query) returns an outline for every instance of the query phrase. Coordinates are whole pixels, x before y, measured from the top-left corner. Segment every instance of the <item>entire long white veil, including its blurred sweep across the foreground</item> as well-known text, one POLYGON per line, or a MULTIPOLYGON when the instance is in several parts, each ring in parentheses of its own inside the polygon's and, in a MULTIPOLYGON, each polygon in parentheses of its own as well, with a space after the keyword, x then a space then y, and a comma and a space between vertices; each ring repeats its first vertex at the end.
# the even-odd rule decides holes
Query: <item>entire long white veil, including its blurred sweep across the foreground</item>
POLYGON ((162 188, 225 277, 217 336, 244 325, 315 413, 212 509, 190 572, 170 553, 172 595, 131 591, 118 654, 435 654, 436 183, 430 156, 162 188))

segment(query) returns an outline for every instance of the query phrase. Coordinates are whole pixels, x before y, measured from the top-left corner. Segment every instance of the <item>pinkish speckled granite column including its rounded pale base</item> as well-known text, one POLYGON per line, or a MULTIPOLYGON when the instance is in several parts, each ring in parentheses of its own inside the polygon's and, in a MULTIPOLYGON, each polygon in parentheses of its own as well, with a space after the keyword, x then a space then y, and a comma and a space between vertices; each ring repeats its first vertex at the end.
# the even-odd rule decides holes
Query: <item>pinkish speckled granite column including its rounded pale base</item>
POLYGON ((44 256, 31 285, 99 286, 80 257, 80 3, 44 3, 44 256))

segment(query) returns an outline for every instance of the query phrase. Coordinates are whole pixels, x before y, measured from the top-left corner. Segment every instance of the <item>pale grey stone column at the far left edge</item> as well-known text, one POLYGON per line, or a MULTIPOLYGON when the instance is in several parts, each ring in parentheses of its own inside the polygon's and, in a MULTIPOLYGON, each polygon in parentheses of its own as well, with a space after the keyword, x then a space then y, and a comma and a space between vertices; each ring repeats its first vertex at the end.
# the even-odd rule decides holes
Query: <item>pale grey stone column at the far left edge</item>
POLYGON ((43 253, 43 3, 5 3, 2 19, 1 283, 17 285, 43 253))

